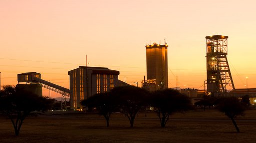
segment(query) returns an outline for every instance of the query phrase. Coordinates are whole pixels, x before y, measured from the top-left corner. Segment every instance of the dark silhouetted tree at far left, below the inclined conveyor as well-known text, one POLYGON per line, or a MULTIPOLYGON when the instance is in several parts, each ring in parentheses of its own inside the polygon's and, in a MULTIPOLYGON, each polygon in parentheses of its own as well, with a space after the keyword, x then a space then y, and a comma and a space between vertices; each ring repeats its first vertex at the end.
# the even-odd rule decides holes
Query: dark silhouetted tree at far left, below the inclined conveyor
POLYGON ((11 119, 16 136, 27 116, 32 115, 33 111, 48 110, 50 104, 48 98, 10 85, 4 86, 0 92, 0 111, 11 119))

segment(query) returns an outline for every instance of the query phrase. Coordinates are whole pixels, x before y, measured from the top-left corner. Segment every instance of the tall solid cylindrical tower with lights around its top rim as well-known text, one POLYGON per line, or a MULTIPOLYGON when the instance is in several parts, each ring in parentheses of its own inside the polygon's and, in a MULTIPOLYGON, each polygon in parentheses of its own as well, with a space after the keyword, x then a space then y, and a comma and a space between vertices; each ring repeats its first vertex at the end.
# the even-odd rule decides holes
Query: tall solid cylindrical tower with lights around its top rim
POLYGON ((143 87, 149 91, 168 88, 167 47, 157 43, 146 45, 147 80, 143 87))

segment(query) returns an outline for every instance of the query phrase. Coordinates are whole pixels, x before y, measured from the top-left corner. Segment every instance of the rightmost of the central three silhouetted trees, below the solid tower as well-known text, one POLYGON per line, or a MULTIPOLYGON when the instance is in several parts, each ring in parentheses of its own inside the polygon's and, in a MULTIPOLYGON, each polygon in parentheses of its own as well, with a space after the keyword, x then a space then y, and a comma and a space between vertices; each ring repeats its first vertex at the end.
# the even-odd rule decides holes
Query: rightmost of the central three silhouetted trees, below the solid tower
POLYGON ((183 112, 192 109, 189 97, 180 94, 177 90, 158 90, 152 94, 150 106, 154 107, 161 127, 165 127, 169 116, 174 112, 183 112))

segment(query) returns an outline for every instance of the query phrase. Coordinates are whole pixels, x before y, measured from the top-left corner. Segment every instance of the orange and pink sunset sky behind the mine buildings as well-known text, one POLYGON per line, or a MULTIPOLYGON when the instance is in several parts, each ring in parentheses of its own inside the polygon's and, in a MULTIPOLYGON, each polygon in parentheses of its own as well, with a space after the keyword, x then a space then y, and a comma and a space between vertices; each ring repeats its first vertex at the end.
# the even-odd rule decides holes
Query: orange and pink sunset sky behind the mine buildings
MULTIPOLYGON (((86 65, 120 71, 141 86, 146 48, 168 47, 168 86, 204 89, 206 39, 228 36, 235 88, 256 88, 255 0, 0 0, 3 85, 39 72, 69 88, 68 71, 86 65)), ((44 89, 43 95, 48 96, 44 89)), ((52 93, 53 97, 60 97, 52 93)))

